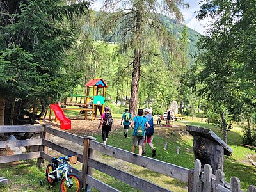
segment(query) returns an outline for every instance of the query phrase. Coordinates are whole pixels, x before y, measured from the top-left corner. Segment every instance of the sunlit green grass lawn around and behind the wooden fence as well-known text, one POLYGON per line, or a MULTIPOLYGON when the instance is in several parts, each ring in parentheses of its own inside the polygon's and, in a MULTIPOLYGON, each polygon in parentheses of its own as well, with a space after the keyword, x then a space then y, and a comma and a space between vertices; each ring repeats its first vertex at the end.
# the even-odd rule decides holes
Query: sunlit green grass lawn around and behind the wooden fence
MULTIPOLYGON (((69 111, 73 112, 73 111, 69 111)), ((71 113, 68 113, 71 115, 71 113)), ((68 116, 67 115, 67 116, 68 116)), ((113 118, 121 118, 122 114, 113 114, 113 118)), ((156 159, 166 161, 168 163, 177 164, 186 168, 194 167, 193 156, 193 137, 185 131, 185 125, 196 125, 212 129, 220 138, 222 138, 221 132, 218 131, 213 125, 206 124, 204 122, 198 122, 197 119, 191 121, 189 118, 182 122, 175 122, 175 125, 182 125, 179 128, 166 128, 156 127, 156 134, 154 136, 154 147, 157 150, 156 159), (167 150, 164 150, 165 143, 168 143, 167 150), (176 153, 176 148, 180 147, 180 154, 176 153)), ((102 141, 101 135, 93 135, 97 138, 97 141, 102 141)), ((241 188, 246 191, 246 188, 251 184, 256 184, 256 168, 250 164, 246 164, 246 155, 256 155, 255 152, 249 148, 239 145, 241 143, 241 128, 235 126, 234 129, 228 132, 228 145, 233 149, 231 157, 225 156, 224 172, 227 182, 230 182, 230 177, 236 176, 241 180, 241 188)), ((127 138, 124 138, 122 128, 116 132, 110 132, 108 137, 108 145, 122 148, 124 150, 131 151, 132 148, 132 130, 128 132, 127 138)), ((138 153, 138 149, 136 151, 138 153)), ((146 156, 151 157, 151 150, 147 146, 146 156)), ((109 156, 102 156, 104 161, 113 163, 113 166, 124 170, 125 172, 132 173, 138 177, 142 177, 146 180, 154 182, 164 188, 172 191, 187 191, 186 184, 179 182, 178 180, 166 177, 156 172, 148 171, 140 166, 134 166, 130 163, 119 162, 118 159, 114 159, 109 156)), ((47 165, 47 164, 45 164, 47 165)), ((45 177, 45 167, 37 168, 36 161, 20 161, 17 163, 0 164, 1 175, 10 180, 10 184, 4 187, 0 187, 0 191, 45 191, 47 190, 47 184, 39 186, 39 181, 45 177)), ((93 176, 99 180, 106 182, 120 191, 138 191, 131 188, 127 184, 119 182, 118 180, 110 177, 97 170, 93 172, 93 176)), ((51 191, 59 191, 58 184, 51 191)), ((93 189, 92 191, 96 191, 93 189)))

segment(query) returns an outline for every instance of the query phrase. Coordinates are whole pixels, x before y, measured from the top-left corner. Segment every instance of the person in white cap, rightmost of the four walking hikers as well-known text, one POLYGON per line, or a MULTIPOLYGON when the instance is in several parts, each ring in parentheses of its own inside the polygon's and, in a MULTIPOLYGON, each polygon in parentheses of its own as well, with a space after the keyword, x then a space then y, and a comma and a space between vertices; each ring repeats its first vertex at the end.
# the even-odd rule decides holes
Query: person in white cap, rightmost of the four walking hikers
POLYGON ((142 150, 142 154, 146 154, 146 141, 148 143, 148 145, 151 147, 152 149, 152 157, 156 156, 156 149, 154 149, 153 146, 153 134, 154 134, 154 119, 153 116, 150 114, 150 109, 146 108, 144 109, 145 112, 145 118, 147 118, 148 120, 148 124, 149 124, 149 128, 146 130, 146 134, 145 134, 145 140, 143 141, 143 150, 142 150))

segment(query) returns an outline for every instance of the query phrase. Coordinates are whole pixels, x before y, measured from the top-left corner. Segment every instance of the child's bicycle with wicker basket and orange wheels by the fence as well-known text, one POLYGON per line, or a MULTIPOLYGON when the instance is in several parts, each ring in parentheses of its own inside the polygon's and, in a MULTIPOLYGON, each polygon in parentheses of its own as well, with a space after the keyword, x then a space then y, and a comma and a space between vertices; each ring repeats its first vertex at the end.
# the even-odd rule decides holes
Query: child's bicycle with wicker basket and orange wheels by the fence
MULTIPOLYGON (((77 156, 53 158, 51 161, 52 163, 47 165, 45 172, 46 178, 44 180, 47 180, 51 186, 54 186, 56 182, 60 181, 61 192, 81 191, 81 178, 75 173, 72 173, 71 166, 71 164, 77 163, 77 156), (68 161, 70 161, 70 164, 68 164, 68 161), (58 165, 59 162, 61 162, 60 165, 58 165)), ((41 185, 43 184, 44 180, 40 181, 41 185)))

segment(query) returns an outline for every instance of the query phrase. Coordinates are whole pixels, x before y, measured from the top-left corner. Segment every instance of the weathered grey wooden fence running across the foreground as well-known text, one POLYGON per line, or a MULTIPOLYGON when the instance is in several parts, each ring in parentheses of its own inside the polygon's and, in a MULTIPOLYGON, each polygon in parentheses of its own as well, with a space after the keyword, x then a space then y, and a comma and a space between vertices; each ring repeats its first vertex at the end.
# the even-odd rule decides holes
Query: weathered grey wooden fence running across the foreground
MULTIPOLYGON (((73 169, 78 175, 82 177, 82 187, 86 191, 91 191, 91 188, 98 189, 99 191, 118 191, 108 184, 95 179, 92 175, 92 168, 106 173, 115 179, 118 179, 133 188, 140 189, 141 191, 170 191, 161 186, 141 179, 136 175, 118 170, 108 164, 104 164, 94 158, 94 152, 102 152, 117 159, 122 159, 132 164, 142 166, 148 170, 152 170, 163 175, 167 175, 178 179, 182 182, 188 183, 188 191, 241 191, 240 181, 237 177, 230 179, 230 184, 225 182, 225 177, 222 170, 217 170, 216 175, 212 175, 211 166, 205 164, 204 169, 201 170, 201 163, 199 160, 195 161, 195 169, 189 170, 175 164, 166 163, 150 157, 138 156, 132 152, 122 150, 120 148, 111 147, 95 141, 95 138, 90 136, 77 136, 68 132, 53 129, 49 126, 0 126, 0 133, 17 133, 17 132, 40 132, 39 139, 30 140, 17 140, 17 141, 0 141, 0 148, 7 147, 20 147, 38 145, 38 152, 29 152, 26 154, 0 156, 0 163, 9 163, 13 161, 20 161, 25 159, 38 159, 37 164, 41 166, 42 159, 51 162, 53 158, 47 154, 46 148, 52 148, 64 155, 77 154, 77 160, 82 163, 82 170, 73 169), (49 134, 58 136, 73 143, 83 146, 83 154, 79 154, 74 150, 62 147, 49 140, 49 134)), ((255 186, 249 186, 248 192, 256 192, 255 186)))

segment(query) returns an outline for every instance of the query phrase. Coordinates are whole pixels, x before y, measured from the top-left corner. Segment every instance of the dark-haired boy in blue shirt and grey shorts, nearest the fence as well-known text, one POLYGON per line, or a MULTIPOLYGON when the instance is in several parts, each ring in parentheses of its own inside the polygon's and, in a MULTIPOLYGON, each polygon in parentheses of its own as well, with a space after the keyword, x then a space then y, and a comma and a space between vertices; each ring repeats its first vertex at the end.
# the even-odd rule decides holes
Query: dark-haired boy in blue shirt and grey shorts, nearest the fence
POLYGON ((136 147, 139 146, 139 155, 142 155, 142 145, 145 139, 145 129, 148 129, 150 125, 148 124, 147 118, 143 115, 143 109, 138 109, 138 116, 135 116, 131 122, 131 127, 133 131, 133 145, 132 152, 134 153, 136 147))

